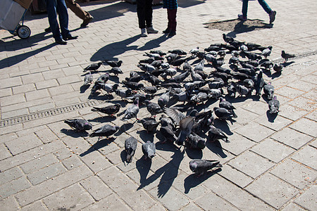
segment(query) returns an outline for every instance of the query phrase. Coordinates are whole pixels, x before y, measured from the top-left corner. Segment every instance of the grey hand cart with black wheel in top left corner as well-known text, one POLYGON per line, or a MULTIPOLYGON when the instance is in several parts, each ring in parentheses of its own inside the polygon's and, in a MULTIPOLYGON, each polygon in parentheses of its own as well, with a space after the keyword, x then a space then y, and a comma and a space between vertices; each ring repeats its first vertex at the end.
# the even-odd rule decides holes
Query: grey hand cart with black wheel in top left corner
POLYGON ((31 30, 24 24, 24 15, 32 0, 1 0, 0 27, 21 39, 30 37, 31 30))

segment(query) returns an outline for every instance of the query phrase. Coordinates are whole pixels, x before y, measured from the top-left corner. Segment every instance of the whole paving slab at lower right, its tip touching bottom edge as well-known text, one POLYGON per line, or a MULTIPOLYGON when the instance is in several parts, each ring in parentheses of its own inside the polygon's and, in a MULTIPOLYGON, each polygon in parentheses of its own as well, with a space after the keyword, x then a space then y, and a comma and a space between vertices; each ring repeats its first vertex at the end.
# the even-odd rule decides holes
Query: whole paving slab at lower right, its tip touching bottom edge
POLYGON ((272 174, 264 174, 245 189, 276 209, 282 207, 288 200, 299 193, 297 188, 280 181, 278 177, 272 174))

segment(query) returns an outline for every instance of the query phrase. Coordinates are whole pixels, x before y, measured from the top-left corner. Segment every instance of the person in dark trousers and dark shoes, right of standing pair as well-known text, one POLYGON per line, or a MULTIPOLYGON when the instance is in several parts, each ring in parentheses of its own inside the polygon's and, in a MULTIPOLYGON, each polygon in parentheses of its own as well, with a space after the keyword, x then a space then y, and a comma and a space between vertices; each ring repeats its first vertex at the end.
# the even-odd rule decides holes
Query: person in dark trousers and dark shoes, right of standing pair
POLYGON ((177 0, 163 0, 163 8, 167 9, 168 27, 163 33, 168 34, 168 37, 173 37, 176 34, 176 13, 178 12, 177 0))

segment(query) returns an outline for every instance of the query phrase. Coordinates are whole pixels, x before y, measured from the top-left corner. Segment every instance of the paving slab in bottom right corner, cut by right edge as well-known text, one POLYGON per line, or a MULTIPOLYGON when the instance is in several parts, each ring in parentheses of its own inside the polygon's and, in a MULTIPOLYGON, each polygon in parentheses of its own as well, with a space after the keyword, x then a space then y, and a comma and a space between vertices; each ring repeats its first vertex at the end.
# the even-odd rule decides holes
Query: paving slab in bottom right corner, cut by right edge
POLYGON ((316 184, 311 186, 305 193, 295 200, 295 203, 307 210, 316 209, 316 184))

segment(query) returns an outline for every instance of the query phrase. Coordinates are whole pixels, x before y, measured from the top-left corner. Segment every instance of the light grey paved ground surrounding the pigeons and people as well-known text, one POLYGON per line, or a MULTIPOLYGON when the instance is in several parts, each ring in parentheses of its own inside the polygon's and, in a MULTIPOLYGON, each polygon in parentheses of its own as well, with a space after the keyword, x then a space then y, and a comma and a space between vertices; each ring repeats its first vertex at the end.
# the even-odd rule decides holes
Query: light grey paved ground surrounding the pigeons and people
MULTIPOLYGON (((317 4, 315 0, 268 1, 278 11, 272 28, 236 34, 237 39, 297 53, 282 75, 266 75, 280 100, 280 113, 269 120, 263 98, 237 98, 237 122, 221 124, 231 143, 208 144, 200 157, 220 160, 221 171, 198 179, 189 170, 191 151, 179 151, 147 134, 139 123, 121 122, 91 106, 108 105, 104 96, 88 99, 82 68, 101 59, 119 58, 128 75, 150 49, 206 48, 223 43, 220 30, 203 23, 230 20, 240 13, 237 0, 179 0, 178 31, 140 37, 136 6, 121 1, 82 4, 94 15, 89 27, 72 12, 70 30, 79 39, 54 44, 46 15, 27 15, 27 40, 0 30, 0 205, 1 210, 317 210, 316 81, 317 4), (111 120, 121 126, 113 139, 97 142, 73 132, 66 118, 91 120, 94 129, 111 120), (139 138, 132 163, 123 162, 124 141, 139 138), (141 143, 154 140, 156 157, 142 160, 141 143)), ((268 22, 257 1, 249 18, 268 22)), ((165 30, 166 10, 154 6, 154 27, 165 30)), ((229 33, 229 32, 225 32, 229 33)), ((108 66, 101 67, 108 70, 108 66)), ((114 79, 114 78, 113 78, 114 79)), ((218 105, 215 103, 211 106, 218 105)), ((122 108, 123 110, 123 108, 122 108)), ((139 117, 149 117, 142 108, 139 117)))

